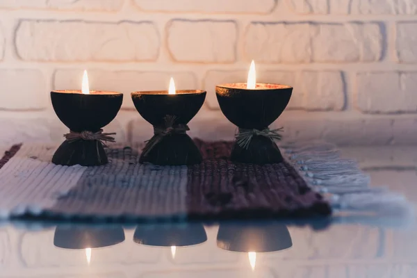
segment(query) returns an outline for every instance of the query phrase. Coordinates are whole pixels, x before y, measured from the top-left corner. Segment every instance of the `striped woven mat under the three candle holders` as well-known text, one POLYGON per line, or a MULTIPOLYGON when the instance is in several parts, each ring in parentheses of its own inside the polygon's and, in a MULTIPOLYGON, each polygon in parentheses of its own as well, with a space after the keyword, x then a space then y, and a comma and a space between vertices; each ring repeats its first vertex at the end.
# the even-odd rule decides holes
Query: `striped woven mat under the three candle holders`
POLYGON ((142 145, 112 145, 98 167, 54 165, 57 145, 14 145, 0 160, 0 218, 311 217, 375 195, 333 145, 281 145, 286 161, 260 166, 231 163, 231 142, 195 142, 201 164, 163 167, 138 163, 142 145))

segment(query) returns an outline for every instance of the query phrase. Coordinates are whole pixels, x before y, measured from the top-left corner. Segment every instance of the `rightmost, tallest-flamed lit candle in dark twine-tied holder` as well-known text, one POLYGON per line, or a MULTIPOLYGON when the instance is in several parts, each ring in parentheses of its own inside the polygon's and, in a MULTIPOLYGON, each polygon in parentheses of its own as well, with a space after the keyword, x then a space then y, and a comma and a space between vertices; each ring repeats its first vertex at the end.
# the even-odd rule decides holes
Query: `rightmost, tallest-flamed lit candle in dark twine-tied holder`
POLYGON ((284 112, 293 88, 288 85, 256 83, 252 61, 247 83, 218 85, 215 92, 222 113, 238 126, 231 160, 240 163, 268 164, 283 161, 275 140, 281 129, 269 129, 284 112))

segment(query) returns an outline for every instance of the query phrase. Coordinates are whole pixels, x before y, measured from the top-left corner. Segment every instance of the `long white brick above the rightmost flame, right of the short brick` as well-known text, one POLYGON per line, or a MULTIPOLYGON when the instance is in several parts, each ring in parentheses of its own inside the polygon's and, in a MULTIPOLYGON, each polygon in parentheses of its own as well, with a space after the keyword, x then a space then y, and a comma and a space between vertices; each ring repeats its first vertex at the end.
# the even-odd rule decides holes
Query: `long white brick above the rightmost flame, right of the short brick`
POLYGON ((245 55, 261 63, 354 63, 382 57, 376 23, 252 22, 245 55))

